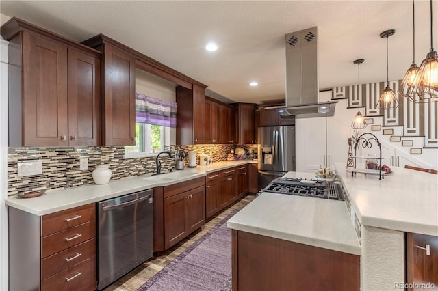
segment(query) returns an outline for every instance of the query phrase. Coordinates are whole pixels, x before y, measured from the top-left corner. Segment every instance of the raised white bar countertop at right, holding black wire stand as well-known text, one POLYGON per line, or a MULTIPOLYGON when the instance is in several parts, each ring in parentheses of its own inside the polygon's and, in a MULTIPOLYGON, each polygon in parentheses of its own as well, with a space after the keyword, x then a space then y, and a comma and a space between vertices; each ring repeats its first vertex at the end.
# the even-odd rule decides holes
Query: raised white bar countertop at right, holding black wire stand
POLYGON ((378 180, 335 167, 362 225, 438 236, 437 175, 391 167, 394 174, 378 180))

